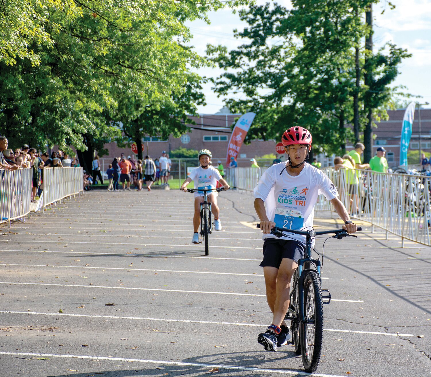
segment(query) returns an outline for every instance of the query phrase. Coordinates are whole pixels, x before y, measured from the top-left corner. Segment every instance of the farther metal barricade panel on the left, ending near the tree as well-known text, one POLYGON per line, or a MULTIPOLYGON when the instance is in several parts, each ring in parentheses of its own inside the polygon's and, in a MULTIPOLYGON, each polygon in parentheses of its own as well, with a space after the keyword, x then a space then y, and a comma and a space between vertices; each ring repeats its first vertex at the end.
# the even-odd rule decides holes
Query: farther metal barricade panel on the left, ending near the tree
POLYGON ((84 192, 82 167, 54 167, 43 170, 43 207, 84 192))

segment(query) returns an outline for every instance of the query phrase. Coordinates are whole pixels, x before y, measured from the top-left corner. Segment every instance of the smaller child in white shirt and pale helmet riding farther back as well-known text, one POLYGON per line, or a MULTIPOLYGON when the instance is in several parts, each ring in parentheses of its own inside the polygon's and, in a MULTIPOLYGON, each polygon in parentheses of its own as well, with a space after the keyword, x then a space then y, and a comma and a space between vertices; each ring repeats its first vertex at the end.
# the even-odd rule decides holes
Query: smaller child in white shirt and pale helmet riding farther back
MULTIPOLYGON (((215 188, 217 182, 220 182, 225 190, 228 190, 228 182, 222 178, 219 170, 215 169, 215 167, 209 166, 212 158, 211 152, 208 149, 202 149, 197 154, 197 158, 199 160, 200 167, 191 171, 190 176, 185 179, 180 189, 187 192, 187 185, 191 181, 194 181, 195 189, 215 188)), ((207 195, 211 201, 212 214, 214 215, 214 228, 215 230, 222 230, 222 223, 219 219, 220 210, 217 206, 217 192, 208 192, 207 195)), ((198 191, 194 193, 193 243, 199 243, 198 229, 200 225, 200 203, 202 202, 202 199, 203 192, 198 191)))

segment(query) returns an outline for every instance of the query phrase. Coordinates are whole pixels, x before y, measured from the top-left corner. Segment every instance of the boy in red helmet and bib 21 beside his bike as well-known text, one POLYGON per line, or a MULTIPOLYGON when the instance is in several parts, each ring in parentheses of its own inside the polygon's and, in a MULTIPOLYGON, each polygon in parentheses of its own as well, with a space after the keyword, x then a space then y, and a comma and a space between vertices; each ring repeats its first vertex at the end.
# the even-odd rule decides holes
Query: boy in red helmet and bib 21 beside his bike
POLYGON ((254 189, 254 207, 264 240, 260 266, 265 276, 266 300, 273 313, 272 324, 257 339, 265 350, 274 352, 290 339, 284 316, 289 307, 290 280, 297 269, 297 261, 304 256, 306 236, 291 234, 277 238, 270 234, 271 229, 275 226, 294 230, 312 227, 314 206, 321 192, 344 221, 343 228, 348 233, 357 230, 328 176, 305 163, 311 150, 310 132, 303 127, 290 127, 281 142, 287 162, 269 167, 254 189))

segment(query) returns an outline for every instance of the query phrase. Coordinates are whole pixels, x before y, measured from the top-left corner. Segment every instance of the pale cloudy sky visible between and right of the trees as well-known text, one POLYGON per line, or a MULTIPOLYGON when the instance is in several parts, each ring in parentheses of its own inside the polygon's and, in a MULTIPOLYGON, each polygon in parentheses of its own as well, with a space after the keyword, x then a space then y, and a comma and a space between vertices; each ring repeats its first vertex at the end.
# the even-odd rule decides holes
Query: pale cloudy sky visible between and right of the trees
MULTIPOLYGON (((257 0, 258 4, 264 4, 268 0, 257 0)), ((288 8, 291 3, 288 0, 276 1, 288 8)), ((431 1, 426 0, 391 0, 396 8, 390 10, 387 1, 381 1, 374 6, 374 43, 375 50, 387 42, 395 43, 398 47, 406 48, 412 57, 403 61, 400 66, 394 85, 404 85, 405 91, 410 94, 420 95, 422 98, 415 100, 421 103, 431 104, 431 1), (384 14, 381 11, 386 9, 384 14)), ((194 38, 191 44, 201 55, 205 54, 206 44, 222 44, 228 49, 234 49, 244 41, 234 38, 233 29, 242 30, 246 24, 241 22, 237 14, 230 9, 223 9, 209 14, 211 24, 196 21, 189 24, 194 38)), ((198 73, 202 76, 217 77, 223 71, 220 69, 201 69, 198 73)), ((198 108, 199 113, 214 114, 223 107, 223 98, 217 97, 211 90, 211 85, 204 86, 206 106, 198 108)), ((424 106, 431 107, 431 105, 424 106)))

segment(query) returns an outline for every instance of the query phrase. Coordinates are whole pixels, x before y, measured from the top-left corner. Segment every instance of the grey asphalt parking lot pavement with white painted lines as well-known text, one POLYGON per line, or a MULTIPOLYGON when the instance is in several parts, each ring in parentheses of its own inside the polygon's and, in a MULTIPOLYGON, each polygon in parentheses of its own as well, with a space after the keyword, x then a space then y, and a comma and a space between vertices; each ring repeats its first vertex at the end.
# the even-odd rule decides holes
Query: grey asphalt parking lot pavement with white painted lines
MULTIPOLYGON (((256 340, 272 315, 252 194, 219 206, 209 256, 191 244, 193 195, 177 190, 84 192, 0 228, 1 377, 309 375, 293 346, 256 340)), ((316 213, 316 229, 338 224, 316 213)), ((431 248, 361 225, 325 243, 332 301, 313 375, 429 376, 431 248)))

